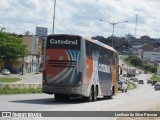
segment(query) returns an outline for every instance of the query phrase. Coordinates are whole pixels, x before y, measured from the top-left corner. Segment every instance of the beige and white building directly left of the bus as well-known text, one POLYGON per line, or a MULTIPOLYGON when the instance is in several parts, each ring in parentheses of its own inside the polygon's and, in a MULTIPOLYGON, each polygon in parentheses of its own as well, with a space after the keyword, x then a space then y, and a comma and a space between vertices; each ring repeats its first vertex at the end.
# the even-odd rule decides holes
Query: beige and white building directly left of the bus
POLYGON ((27 45, 29 54, 22 60, 23 73, 39 72, 42 62, 44 39, 35 35, 24 36, 23 43, 27 45))

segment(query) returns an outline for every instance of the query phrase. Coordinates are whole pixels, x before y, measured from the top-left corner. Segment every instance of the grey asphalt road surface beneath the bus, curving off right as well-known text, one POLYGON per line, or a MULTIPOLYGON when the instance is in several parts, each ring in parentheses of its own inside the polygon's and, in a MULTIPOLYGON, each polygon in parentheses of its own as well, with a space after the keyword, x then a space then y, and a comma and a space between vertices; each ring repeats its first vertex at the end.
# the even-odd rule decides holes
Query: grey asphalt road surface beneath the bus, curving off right
MULTIPOLYGON (((56 102, 54 100, 54 95, 47 94, 0 95, 0 111, 148 110, 155 107, 156 105, 160 105, 160 91, 155 91, 153 86, 147 84, 147 79, 149 77, 150 75, 148 74, 140 74, 138 78, 145 81, 143 85, 136 83, 137 88, 134 90, 128 90, 127 93, 119 92, 119 94, 114 96, 113 99, 98 98, 98 101, 96 102, 82 102, 80 98, 71 99, 69 102, 56 102)), ((55 119, 57 120, 57 118, 55 119)))

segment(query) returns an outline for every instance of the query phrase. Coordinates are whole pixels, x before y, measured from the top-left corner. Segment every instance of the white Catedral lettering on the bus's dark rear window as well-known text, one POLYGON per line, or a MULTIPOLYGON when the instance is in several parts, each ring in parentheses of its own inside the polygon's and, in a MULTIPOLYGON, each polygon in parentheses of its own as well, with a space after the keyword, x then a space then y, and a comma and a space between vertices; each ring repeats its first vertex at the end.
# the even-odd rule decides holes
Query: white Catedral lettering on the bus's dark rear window
POLYGON ((78 40, 70 41, 70 40, 50 40, 51 44, 66 44, 66 45, 78 45, 78 40))

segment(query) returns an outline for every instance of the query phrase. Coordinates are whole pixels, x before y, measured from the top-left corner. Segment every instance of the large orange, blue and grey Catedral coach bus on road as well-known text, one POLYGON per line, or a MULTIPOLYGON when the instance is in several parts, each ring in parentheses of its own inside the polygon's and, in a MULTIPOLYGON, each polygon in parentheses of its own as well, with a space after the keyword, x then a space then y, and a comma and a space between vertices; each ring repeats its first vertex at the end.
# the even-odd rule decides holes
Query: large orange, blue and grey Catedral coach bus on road
POLYGON ((46 38, 42 91, 55 100, 81 96, 96 101, 118 93, 117 52, 80 35, 55 34, 46 38))

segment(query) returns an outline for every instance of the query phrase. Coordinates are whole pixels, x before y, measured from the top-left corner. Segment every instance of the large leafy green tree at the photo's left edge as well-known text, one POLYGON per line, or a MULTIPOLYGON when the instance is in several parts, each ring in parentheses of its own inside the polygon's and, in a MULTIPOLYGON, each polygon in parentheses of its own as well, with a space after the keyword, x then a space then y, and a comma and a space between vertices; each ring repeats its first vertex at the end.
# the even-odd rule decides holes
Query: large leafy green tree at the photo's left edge
POLYGON ((16 36, 0 32, 0 61, 13 63, 28 55, 27 45, 16 36))

